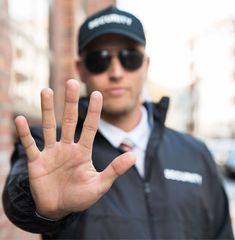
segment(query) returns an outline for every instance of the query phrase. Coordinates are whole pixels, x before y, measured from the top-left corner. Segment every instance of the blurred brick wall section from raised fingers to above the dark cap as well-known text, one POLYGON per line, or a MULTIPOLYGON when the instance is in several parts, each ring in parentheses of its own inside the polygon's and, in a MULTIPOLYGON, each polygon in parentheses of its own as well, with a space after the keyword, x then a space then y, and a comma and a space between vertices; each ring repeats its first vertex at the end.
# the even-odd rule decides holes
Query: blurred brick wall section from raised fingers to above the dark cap
POLYGON ((57 122, 61 121, 63 113, 65 83, 70 78, 78 79, 75 69, 77 28, 86 15, 110 4, 116 4, 116 0, 57 0, 53 2, 50 17, 52 53, 50 85, 55 92, 57 122))

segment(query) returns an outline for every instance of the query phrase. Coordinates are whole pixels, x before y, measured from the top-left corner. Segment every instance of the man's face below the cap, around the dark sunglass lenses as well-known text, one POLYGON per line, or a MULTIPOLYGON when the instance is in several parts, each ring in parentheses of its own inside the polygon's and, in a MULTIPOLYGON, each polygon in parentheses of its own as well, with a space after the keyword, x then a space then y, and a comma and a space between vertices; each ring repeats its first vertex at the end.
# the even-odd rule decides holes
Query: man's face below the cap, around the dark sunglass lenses
POLYGON ((120 35, 104 35, 97 38, 89 46, 89 50, 82 53, 81 59, 98 50, 108 50, 106 52, 112 55, 110 64, 103 72, 92 73, 83 60, 78 63, 80 77, 86 85, 87 94, 90 95, 94 90, 102 93, 103 115, 117 117, 139 111, 141 91, 149 62, 144 47, 120 35), (120 50, 130 48, 144 54, 142 65, 135 70, 126 70, 118 58, 120 50))

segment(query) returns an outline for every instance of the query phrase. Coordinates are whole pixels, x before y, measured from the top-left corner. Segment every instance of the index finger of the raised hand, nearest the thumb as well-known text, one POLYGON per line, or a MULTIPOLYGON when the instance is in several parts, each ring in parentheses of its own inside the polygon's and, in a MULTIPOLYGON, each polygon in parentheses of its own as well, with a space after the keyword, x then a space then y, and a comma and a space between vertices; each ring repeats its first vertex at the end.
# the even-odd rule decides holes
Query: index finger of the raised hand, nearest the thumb
POLYGON ((96 131, 99 126, 102 104, 101 93, 98 91, 93 92, 90 97, 87 116, 83 123, 82 133, 79 140, 79 144, 88 150, 92 149, 96 131))

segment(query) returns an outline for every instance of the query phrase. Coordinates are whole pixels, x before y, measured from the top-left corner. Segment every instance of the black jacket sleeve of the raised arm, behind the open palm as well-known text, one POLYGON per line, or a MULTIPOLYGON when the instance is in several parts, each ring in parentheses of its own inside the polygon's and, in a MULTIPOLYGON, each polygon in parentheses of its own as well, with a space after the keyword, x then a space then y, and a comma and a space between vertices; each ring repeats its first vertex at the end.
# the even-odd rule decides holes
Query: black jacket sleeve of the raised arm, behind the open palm
MULTIPOLYGON (((35 127, 31 129, 31 133, 38 148, 43 149, 41 130, 35 127)), ((36 214, 29 188, 27 158, 19 139, 15 143, 15 150, 11 157, 11 168, 6 179, 2 200, 9 220, 25 231, 50 234, 74 219, 74 214, 58 221, 45 219, 36 214)))

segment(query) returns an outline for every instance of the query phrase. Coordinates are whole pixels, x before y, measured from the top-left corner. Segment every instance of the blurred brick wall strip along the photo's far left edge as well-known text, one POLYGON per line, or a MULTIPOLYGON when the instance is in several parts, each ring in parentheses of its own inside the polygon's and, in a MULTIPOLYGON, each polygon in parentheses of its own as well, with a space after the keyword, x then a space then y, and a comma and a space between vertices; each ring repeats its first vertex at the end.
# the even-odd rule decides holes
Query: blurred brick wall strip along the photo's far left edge
MULTIPOLYGON (((13 113, 8 95, 11 78, 11 34, 7 0, 0 1, 0 194, 9 170, 9 157, 13 149, 13 113)), ((7 219, 0 202, 0 239, 36 239, 35 235, 16 228, 7 219)))

